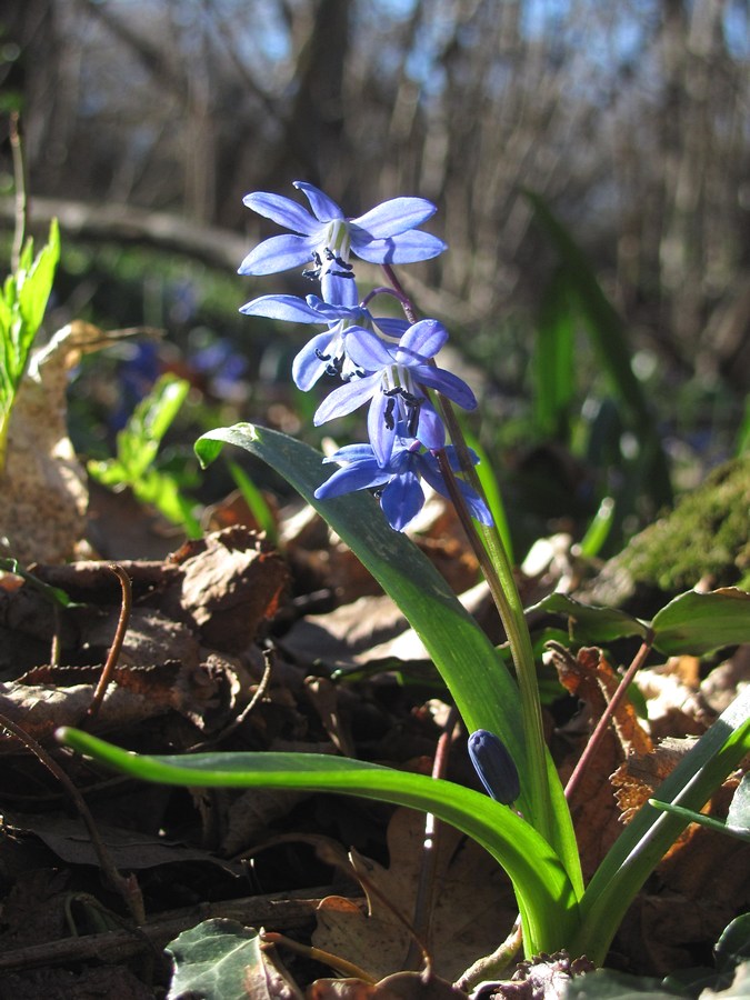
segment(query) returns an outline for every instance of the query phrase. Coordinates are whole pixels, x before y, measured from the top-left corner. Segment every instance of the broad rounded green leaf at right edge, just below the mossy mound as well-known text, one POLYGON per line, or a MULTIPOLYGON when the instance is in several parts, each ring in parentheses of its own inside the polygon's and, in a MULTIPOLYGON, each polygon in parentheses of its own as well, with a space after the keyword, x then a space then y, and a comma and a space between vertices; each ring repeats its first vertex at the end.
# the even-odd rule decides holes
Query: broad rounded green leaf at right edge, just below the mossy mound
POLYGON ((689 590, 662 608, 651 628, 653 644, 668 657, 700 657, 750 642, 750 593, 736 587, 689 590))

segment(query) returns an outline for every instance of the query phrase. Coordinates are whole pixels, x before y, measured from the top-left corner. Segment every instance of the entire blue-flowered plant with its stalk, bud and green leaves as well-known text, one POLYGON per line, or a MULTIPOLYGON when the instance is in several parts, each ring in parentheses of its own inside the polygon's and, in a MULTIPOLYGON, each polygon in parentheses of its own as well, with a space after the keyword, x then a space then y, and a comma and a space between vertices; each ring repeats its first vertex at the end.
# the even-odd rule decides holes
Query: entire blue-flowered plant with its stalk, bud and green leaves
MULTIPOLYGON (((434 206, 422 198, 396 198, 347 218, 312 184, 296 187, 311 212, 278 194, 252 193, 244 199, 249 208, 290 232, 260 242, 240 273, 264 276, 301 268, 319 282, 320 294, 307 299, 266 294, 243 306, 242 312, 321 328, 293 361, 294 382, 304 391, 322 380, 336 382, 316 412, 316 424, 369 403, 369 440, 344 444, 323 459, 278 431, 240 423, 203 434, 196 450, 204 464, 226 443, 263 459, 316 507, 379 580, 440 671, 471 733, 470 757, 488 794, 330 754, 144 757, 77 730, 64 730, 61 739, 144 780, 306 789, 422 809, 472 837, 504 868, 516 890, 527 957, 567 948, 573 957, 586 953, 602 962, 626 909, 688 820, 643 807, 584 887, 570 810, 543 740, 523 608, 478 489, 477 457, 463 442, 452 410, 453 403, 473 409, 477 401, 461 379, 439 367, 436 358, 448 333, 438 320, 418 318, 393 271, 394 264, 429 260, 447 249, 419 228, 434 213, 434 206), (388 284, 360 299, 354 259, 379 264, 388 284), (403 319, 377 314, 373 302, 386 294, 399 300, 403 319), (323 479, 326 463, 340 468, 323 479), (424 502, 422 482, 456 506, 498 606, 514 673, 402 533, 424 502), (374 492, 384 518, 368 491, 374 492)), ((658 634, 658 618, 650 626, 636 620, 644 649, 658 634)), ((673 612, 664 629, 674 633, 673 612)), ((658 789, 662 809, 701 809, 749 749, 749 701, 750 692, 740 696, 658 789)), ((497 971, 512 958, 516 938, 509 941, 493 964, 481 967, 484 972, 497 971)))

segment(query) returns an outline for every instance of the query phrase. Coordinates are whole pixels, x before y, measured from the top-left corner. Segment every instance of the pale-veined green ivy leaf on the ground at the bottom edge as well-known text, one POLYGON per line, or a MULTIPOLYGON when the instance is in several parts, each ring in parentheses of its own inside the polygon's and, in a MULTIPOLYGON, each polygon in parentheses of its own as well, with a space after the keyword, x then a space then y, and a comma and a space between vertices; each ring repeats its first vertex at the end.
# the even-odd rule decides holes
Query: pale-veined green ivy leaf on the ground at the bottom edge
POLYGON ((168 1000, 248 1000, 248 972, 263 964, 258 931, 236 920, 206 920, 183 931, 166 951, 174 962, 168 1000))

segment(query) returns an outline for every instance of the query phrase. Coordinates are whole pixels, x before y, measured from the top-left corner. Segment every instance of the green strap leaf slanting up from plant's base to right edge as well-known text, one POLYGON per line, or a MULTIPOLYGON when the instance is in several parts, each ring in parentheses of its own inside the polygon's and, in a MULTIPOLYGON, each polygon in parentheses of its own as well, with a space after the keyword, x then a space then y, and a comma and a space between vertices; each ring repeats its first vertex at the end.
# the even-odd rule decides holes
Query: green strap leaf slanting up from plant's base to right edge
MULTIPOLYGON (((721 713, 656 790, 661 802, 699 811, 750 750, 750 688, 721 713)), ((604 960, 609 944, 641 886, 687 820, 643 806, 626 827, 588 884, 581 900, 581 930, 571 954, 604 960)))

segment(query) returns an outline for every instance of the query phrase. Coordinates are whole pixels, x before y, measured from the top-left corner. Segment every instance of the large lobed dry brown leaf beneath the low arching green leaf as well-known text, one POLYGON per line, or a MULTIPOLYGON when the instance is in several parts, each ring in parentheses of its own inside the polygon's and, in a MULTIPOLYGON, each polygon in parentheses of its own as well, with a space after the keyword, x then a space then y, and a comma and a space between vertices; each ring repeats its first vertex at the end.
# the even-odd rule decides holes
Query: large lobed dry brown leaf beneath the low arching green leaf
MULTIPOLYGON (((349 900, 330 897, 318 910, 313 943, 340 954, 373 977, 402 971, 411 944, 422 863, 424 817, 399 809, 388 829, 389 868, 352 852, 354 870, 366 876, 366 914, 349 900), (372 884, 377 894, 368 887, 372 884), (407 921, 388 908, 387 899, 407 921)), ((512 890, 497 862, 452 827, 441 824, 432 886, 428 951, 437 976, 457 978, 478 954, 497 948, 516 917, 512 890)))

